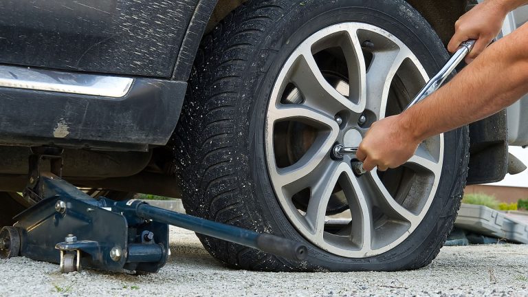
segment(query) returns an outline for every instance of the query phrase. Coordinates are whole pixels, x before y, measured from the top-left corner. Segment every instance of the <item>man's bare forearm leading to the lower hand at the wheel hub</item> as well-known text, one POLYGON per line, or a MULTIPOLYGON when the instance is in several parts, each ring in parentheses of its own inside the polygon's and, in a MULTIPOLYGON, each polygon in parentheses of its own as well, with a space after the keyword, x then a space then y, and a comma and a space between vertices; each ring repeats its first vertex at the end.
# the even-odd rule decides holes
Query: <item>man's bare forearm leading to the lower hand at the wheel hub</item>
POLYGON ((528 23, 491 45, 445 87, 402 113, 401 126, 424 140, 486 118, 527 93, 528 23))

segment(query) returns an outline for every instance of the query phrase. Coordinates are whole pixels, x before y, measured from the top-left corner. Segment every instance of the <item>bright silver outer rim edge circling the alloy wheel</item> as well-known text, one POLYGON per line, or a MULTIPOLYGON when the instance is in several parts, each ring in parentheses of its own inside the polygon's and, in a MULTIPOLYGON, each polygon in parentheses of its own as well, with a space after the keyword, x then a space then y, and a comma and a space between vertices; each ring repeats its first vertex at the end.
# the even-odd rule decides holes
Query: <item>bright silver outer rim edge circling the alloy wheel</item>
MULTIPOLYGON (((300 45, 298 45, 296 50, 294 50, 294 52, 292 52, 292 54, 290 54, 290 56, 287 58, 287 60, 283 64, 283 67, 281 68, 281 72, 279 72, 279 74, 278 74, 278 76, 276 78, 276 81, 274 83, 274 87, 272 89, 272 92, 270 94, 269 106, 267 107, 267 113, 266 113, 266 119, 265 119, 265 158, 266 158, 268 175, 269 175, 270 181, 272 183, 272 188, 274 190, 275 196, 276 196, 279 204, 281 205, 281 208, 282 208, 283 212, 285 213, 287 219, 292 223, 294 228, 305 239, 307 239, 307 241, 310 241, 311 243, 314 243, 314 245, 316 245, 318 248, 322 248, 322 250, 326 250, 327 252, 330 252, 331 254, 336 254, 338 256, 344 256, 344 257, 347 257, 347 258, 366 258, 366 257, 369 257, 369 256, 375 256, 375 255, 378 255, 378 254, 382 254, 384 252, 387 252, 388 250, 392 250, 397 245, 402 243, 405 239, 407 239, 408 236, 410 236, 410 234, 412 234, 416 230, 418 225, 420 225, 420 223, 423 221, 423 218, 428 213, 428 210, 429 210, 429 208, 431 206, 432 200, 434 199, 434 197, 435 197, 435 195, 437 193, 439 180, 441 178, 441 169, 440 169, 440 174, 434 175, 434 180, 432 181, 432 187, 430 189, 430 192, 429 192, 429 195, 427 197, 426 203, 424 203, 423 208, 421 209, 421 212, 418 215, 419 223, 415 223, 415 224, 411 225, 411 227, 407 230, 407 232, 404 232, 403 234, 401 234, 401 236, 399 236, 399 238, 395 239, 392 243, 390 243, 388 245, 384 245, 382 248, 376 248, 376 249, 369 248, 369 250, 363 250, 363 249, 355 250, 355 249, 346 249, 346 248, 338 247, 336 245, 331 245, 330 243, 325 241, 324 238, 322 238, 320 240, 315 240, 314 239, 314 236, 315 236, 314 232, 311 232, 311 230, 309 230, 309 228, 307 228, 305 221, 300 219, 300 214, 299 214, 298 210, 294 209, 295 206, 293 206, 293 203, 289 203, 289 201, 287 201, 288 199, 285 197, 285 195, 283 195, 283 187, 282 186, 278 186, 277 183, 274 181, 274 178, 280 177, 280 175, 278 173, 279 170, 278 170, 278 167, 276 166, 276 162, 275 162, 275 160, 276 160, 275 151, 274 151, 274 123, 275 123, 275 121, 274 120, 270 120, 270 109, 272 108, 272 104, 273 104, 273 106, 277 106, 278 104, 280 104, 280 96, 279 95, 281 95, 281 87, 284 84, 283 82, 284 82, 285 78, 287 78, 289 69, 291 69, 292 65, 295 63, 296 58, 298 58, 298 54, 296 54, 296 53, 298 52, 298 49, 301 46, 303 46, 305 43, 311 43, 313 45, 314 43, 316 43, 317 41, 321 40, 322 38, 324 38, 326 36, 329 36, 329 34, 334 34, 334 33, 337 33, 337 32, 344 31, 344 30, 348 30, 347 26, 351 26, 352 28, 355 28, 355 30, 366 30, 366 31, 371 31, 371 32, 373 32, 375 34, 381 34, 381 35, 385 36, 386 38, 390 39, 391 41, 395 42, 400 47, 405 47, 405 48, 408 49, 408 47, 403 42, 401 42, 399 39, 397 39, 396 36, 394 36, 393 34, 391 34, 389 32, 386 32, 382 28, 378 28, 378 27, 376 27, 374 25, 369 25, 369 24, 365 24, 365 23, 355 23, 355 22, 340 23, 340 24, 337 24, 337 25, 331 25, 331 26, 329 26, 327 28, 323 28, 322 30, 312 34, 307 39, 305 39, 305 41, 300 43, 300 45), (321 34, 321 33, 323 33, 323 34, 321 34), (318 35, 322 35, 322 38, 316 38, 315 37, 315 36, 318 36, 318 35)), ((421 74, 423 80, 427 81, 429 79, 429 76, 428 76, 426 70, 423 68, 423 65, 421 65, 421 63, 419 62, 417 57, 412 53, 412 51, 410 51, 410 53, 412 54, 412 56, 410 56, 409 58, 412 60, 413 64, 417 67, 417 70, 421 74)), ((362 65, 360 64, 360 67, 361 66, 365 67, 363 59, 360 58, 359 60, 362 61, 362 63, 363 63, 362 65)), ((391 78, 391 80, 392 80, 392 78, 391 78)), ((389 80, 388 83, 391 83, 391 80, 389 80)), ((366 79, 362 80, 362 85, 360 87, 363 87, 363 88, 366 87, 365 81, 366 81, 366 79)), ((362 92, 360 92, 360 94, 366 94, 366 93, 362 91, 362 92)), ((360 109, 364 109, 364 102, 366 102, 366 100, 361 100, 360 101, 360 104, 359 104, 360 109), (362 104, 361 102, 363 102, 363 105, 361 105, 362 104)), ((384 109, 386 109, 386 105, 382 105, 380 108, 384 110, 384 109)), ((335 130, 332 129, 332 131, 330 133, 333 133, 334 131, 335 130)), ((440 168, 442 168, 442 166, 443 166, 443 157, 444 157, 443 156, 444 155, 444 137, 443 137, 443 134, 439 135, 438 146, 439 146, 438 164, 439 164, 440 168)), ((341 164, 340 164, 340 166, 341 166, 341 164)), ((355 184, 354 186, 358 186, 358 184, 355 184)), ((369 199, 369 198, 366 197, 366 199, 369 199)), ((360 201, 359 203, 363 203, 363 202, 360 201)), ((366 207, 366 206, 363 205, 362 207, 366 207)), ((372 222, 371 222, 371 224, 372 224, 372 222)), ((350 248, 353 248, 353 246, 351 246, 350 248)))

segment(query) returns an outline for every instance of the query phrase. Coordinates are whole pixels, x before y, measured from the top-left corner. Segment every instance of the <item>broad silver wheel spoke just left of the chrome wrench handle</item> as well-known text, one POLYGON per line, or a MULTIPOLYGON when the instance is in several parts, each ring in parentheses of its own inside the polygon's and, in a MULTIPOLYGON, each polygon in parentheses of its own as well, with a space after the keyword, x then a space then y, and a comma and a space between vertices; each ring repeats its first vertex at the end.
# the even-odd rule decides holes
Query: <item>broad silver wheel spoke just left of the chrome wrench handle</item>
POLYGON ((408 50, 399 48, 373 53, 366 73, 366 109, 373 111, 377 120, 385 118, 388 90, 401 63, 409 55, 408 50))

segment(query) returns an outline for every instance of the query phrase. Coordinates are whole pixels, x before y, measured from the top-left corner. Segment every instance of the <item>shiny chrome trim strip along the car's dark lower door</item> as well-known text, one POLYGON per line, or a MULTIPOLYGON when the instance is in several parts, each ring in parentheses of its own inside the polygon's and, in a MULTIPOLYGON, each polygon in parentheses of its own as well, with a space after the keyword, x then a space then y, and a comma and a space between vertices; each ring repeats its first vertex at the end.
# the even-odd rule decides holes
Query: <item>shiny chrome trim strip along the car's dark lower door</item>
POLYGON ((134 79, 0 65, 0 87, 120 98, 134 79))

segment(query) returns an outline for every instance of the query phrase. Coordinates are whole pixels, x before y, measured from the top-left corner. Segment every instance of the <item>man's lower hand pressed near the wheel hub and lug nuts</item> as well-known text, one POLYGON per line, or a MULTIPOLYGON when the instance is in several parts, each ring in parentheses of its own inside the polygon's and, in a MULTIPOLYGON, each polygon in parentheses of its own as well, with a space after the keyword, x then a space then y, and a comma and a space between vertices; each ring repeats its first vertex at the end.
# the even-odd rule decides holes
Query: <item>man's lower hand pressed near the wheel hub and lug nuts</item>
POLYGON ((367 171, 377 167, 384 171, 396 168, 414 155, 421 140, 412 134, 412 129, 401 118, 394 115, 375 122, 366 133, 356 157, 367 171))

